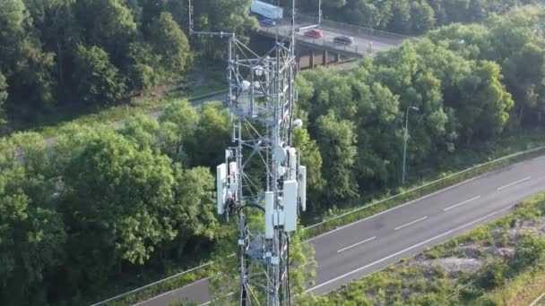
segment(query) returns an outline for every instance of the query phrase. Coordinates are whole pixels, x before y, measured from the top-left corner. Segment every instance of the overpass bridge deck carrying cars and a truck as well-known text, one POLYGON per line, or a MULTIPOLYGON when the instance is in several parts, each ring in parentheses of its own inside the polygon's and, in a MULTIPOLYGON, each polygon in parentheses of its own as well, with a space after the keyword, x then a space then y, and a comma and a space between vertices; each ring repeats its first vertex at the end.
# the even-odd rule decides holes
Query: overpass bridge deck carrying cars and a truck
MULTIPOLYGON (((398 47, 404 39, 411 39, 411 37, 399 34, 371 30, 324 19, 320 22, 320 30, 324 33, 323 38, 305 36, 307 30, 315 28, 314 25, 316 25, 316 22, 312 17, 298 15, 295 24, 295 28, 298 30, 296 40, 302 47, 323 51, 324 58, 329 56, 328 53, 348 57, 374 56, 377 52, 398 47), (354 38, 354 42, 351 45, 336 44, 333 42, 333 38, 338 36, 352 37, 354 38)), ((290 21, 282 20, 278 22, 277 26, 273 27, 260 26, 258 33, 269 38, 274 38, 277 33, 281 37, 289 35, 290 21)))

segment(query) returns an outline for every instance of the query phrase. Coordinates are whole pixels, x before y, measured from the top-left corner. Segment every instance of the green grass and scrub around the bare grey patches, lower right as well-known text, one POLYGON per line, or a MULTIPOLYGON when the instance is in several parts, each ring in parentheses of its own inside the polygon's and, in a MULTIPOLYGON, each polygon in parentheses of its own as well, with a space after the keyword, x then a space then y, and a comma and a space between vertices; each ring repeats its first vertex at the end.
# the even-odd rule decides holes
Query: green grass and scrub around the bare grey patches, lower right
MULTIPOLYGON (((511 258, 486 253, 475 255, 484 262, 478 271, 447 273, 440 266, 422 265, 422 260, 455 256, 464 245, 501 246, 501 234, 509 233, 515 223, 529 220, 545 222, 545 194, 524 200, 515 212, 489 225, 437 245, 415 258, 403 259, 358 281, 322 297, 306 296, 300 305, 528 305, 544 290, 545 254, 532 264, 517 264, 520 242, 514 238, 508 246, 515 249, 511 258)), ((521 233, 523 229, 520 229, 521 233)), ((535 234, 524 234, 537 237, 535 234)), ((515 235, 515 237, 518 237, 515 235)), ((521 236, 522 237, 522 236, 521 236)), ((541 243, 545 243, 545 238, 541 243)), ((522 248, 520 249, 522 250, 522 248)), ((475 257, 474 257, 475 258, 475 257)))

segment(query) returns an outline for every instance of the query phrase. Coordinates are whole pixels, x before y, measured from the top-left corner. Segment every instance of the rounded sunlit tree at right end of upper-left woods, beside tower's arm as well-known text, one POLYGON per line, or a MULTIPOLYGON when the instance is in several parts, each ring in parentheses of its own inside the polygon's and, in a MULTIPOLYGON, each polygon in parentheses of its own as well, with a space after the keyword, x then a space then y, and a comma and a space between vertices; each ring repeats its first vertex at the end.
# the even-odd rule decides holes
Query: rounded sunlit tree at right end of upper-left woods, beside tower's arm
POLYGON ((191 62, 189 43, 186 35, 180 30, 171 13, 161 13, 151 22, 151 47, 160 55, 160 64, 164 72, 171 76, 186 70, 191 62))

